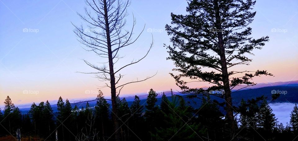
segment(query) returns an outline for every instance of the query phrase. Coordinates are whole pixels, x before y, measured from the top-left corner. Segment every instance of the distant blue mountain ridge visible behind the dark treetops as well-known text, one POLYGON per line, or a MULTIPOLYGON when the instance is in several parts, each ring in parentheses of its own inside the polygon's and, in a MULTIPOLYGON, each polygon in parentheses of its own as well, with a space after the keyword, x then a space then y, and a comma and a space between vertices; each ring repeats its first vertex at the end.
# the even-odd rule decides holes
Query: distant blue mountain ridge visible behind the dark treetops
MULTIPOLYGON (((238 85, 235 87, 234 92, 232 93, 233 96, 233 103, 237 103, 240 102, 240 100, 243 99, 249 99, 249 98, 254 98, 254 97, 258 97, 261 95, 264 95, 265 97, 271 97, 271 90, 275 89, 275 90, 287 90, 288 93, 287 95, 281 95, 276 102, 296 102, 298 103, 298 81, 288 81, 288 82, 274 82, 274 83, 259 83, 253 86, 249 86, 245 89, 241 89, 246 87, 246 85, 238 85), (237 89, 241 89, 237 92, 235 92, 235 90, 237 89)), ((167 97, 171 96, 171 91, 165 91, 165 92, 157 92, 157 105, 159 104, 159 102, 161 102, 161 97, 162 94, 165 93, 165 95, 167 97)), ((182 95, 183 97, 186 97, 187 94, 182 94, 179 92, 173 92, 174 95, 182 95)), ((144 94, 144 95, 138 95, 138 97, 141 100, 141 104, 143 104, 142 102, 146 102, 148 94, 144 94)), ((129 105, 131 105, 132 101, 134 100, 135 96, 127 96, 125 97, 126 101, 129 103, 129 105)), ((120 97, 121 99, 123 97, 120 97)), ((218 97, 212 97, 216 100, 219 100, 219 102, 221 101, 220 99, 218 99, 218 97)), ((95 98, 94 98, 95 99, 95 98)), ((93 99, 84 99, 84 101, 88 101, 88 100, 93 100, 93 99)), ((83 100, 82 100, 83 101, 83 100)), ((190 102, 189 100, 186 100, 187 102, 191 103, 192 105, 194 103, 200 103, 199 100, 196 101, 192 101, 190 102)), ((110 101, 108 101, 110 103, 110 101)), ((89 102, 90 106, 95 106, 96 101, 90 101, 89 102)), ((146 104, 146 103, 145 103, 146 104)), ((79 106, 79 108, 81 108, 82 106, 86 105, 86 102, 83 103, 79 103, 79 104, 71 104, 72 106, 79 106)), ((57 105, 52 104, 51 105, 53 110, 56 111, 57 110, 57 105)), ((30 106, 29 106, 30 107, 30 106)), ((22 113, 27 113, 30 108, 20 108, 20 110, 22 110, 22 113)))

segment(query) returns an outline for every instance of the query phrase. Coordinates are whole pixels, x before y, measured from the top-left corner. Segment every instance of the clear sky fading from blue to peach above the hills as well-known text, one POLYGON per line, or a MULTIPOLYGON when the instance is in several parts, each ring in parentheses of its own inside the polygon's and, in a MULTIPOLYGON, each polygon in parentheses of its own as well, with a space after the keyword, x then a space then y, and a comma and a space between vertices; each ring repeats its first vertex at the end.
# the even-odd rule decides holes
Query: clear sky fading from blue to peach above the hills
MULTIPOLYGON (((77 15, 84 14, 82 0, 0 0, 0 101, 9 95, 15 105, 63 99, 96 97, 97 88, 105 85, 92 74, 94 69, 82 61, 102 62, 102 58, 85 51, 77 41, 73 30, 83 21, 77 15)), ((170 13, 187 14, 185 0, 132 0, 128 8, 126 29, 136 18, 135 35, 145 30, 135 44, 121 50, 125 56, 119 62, 121 67, 133 59, 144 56, 151 43, 154 46, 140 63, 124 69, 121 84, 156 76, 132 85, 126 85, 121 94, 135 95, 156 91, 179 90, 169 75, 174 68, 163 44, 170 45, 165 24, 170 24, 170 13)), ((268 70, 274 77, 258 77, 257 83, 298 80, 298 1, 258 0, 254 10, 256 16, 252 37, 269 36, 262 50, 255 50, 249 66, 235 70, 268 70)), ((195 83, 195 87, 208 86, 195 83)), ((101 89, 105 96, 107 88, 101 89)), ((2 103, 2 102, 1 102, 2 103)))

